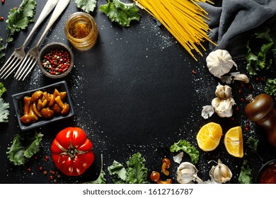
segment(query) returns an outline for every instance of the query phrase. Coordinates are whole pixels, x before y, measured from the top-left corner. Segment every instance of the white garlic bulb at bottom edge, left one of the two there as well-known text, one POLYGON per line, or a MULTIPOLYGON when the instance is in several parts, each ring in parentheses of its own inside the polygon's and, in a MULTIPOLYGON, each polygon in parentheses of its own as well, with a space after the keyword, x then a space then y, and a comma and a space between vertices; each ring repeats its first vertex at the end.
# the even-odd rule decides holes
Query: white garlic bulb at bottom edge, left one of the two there
POLYGON ((178 174, 177 180, 180 184, 188 184, 193 181, 197 181, 197 183, 202 183, 200 177, 197 177, 198 170, 195 168, 190 162, 183 162, 178 166, 178 170, 176 172, 178 174))

